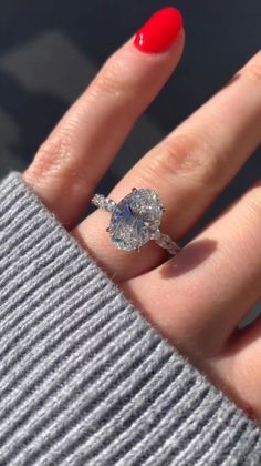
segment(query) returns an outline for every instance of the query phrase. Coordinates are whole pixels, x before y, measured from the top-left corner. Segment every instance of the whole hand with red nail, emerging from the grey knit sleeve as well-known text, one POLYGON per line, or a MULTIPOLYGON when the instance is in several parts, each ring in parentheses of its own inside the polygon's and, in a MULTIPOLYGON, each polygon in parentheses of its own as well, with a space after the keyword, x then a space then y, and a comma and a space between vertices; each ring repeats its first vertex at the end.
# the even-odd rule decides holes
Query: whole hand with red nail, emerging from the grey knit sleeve
MULTIPOLYGON (((161 10, 106 61, 39 149, 24 180, 158 332, 260 422, 261 322, 243 331, 238 323, 261 296, 261 183, 168 261, 154 242, 140 252, 117 250, 104 211, 79 224, 135 121, 176 68, 184 42, 178 12, 161 10)), ((160 230, 180 240, 260 139, 258 53, 145 154, 109 197, 117 202, 133 186, 155 190, 166 206, 160 230)))

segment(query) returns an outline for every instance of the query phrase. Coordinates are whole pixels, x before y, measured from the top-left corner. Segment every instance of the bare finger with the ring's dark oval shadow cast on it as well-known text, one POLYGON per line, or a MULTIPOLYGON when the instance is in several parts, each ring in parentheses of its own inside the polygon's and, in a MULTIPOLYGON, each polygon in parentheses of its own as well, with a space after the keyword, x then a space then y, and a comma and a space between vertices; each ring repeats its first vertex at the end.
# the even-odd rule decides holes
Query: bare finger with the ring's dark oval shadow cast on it
POLYGON ((182 351, 211 357, 261 297, 261 182, 175 259, 122 286, 182 351))

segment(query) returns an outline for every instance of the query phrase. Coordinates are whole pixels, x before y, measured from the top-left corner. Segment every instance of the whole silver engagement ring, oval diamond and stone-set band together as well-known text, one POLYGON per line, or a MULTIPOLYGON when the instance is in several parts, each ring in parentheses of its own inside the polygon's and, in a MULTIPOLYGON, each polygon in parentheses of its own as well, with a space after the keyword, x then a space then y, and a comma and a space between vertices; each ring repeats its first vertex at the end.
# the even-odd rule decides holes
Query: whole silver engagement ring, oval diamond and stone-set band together
POLYGON ((139 251, 144 244, 154 240, 171 255, 180 251, 178 244, 159 230, 165 207, 155 191, 133 188, 119 203, 103 194, 95 194, 91 202, 96 207, 112 213, 106 231, 118 249, 139 251))

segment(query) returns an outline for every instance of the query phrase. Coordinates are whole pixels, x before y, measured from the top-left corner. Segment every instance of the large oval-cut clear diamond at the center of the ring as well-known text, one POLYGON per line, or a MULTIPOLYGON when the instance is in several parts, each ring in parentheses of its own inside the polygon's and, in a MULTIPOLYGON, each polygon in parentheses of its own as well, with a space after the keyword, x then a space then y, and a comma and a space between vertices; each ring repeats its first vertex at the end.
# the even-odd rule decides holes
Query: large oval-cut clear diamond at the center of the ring
POLYGON ((115 207, 109 234, 113 243, 121 250, 132 251, 142 247, 159 227, 163 204, 152 190, 133 190, 115 207))

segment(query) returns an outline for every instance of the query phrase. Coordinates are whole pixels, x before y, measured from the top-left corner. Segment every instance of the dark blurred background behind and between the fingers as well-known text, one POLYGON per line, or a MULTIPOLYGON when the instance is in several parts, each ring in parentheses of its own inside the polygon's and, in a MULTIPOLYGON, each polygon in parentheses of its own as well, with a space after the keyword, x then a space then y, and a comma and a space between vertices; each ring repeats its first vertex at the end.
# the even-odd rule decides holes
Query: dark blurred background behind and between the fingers
MULTIPOLYGON (((185 55, 118 154, 103 181, 105 190, 223 85, 261 43, 260 0, 1 0, 0 6, 1 176, 28 165, 107 55, 157 9, 176 6, 184 13, 185 55)), ((260 155, 246 164, 199 229, 260 176, 260 155)))

